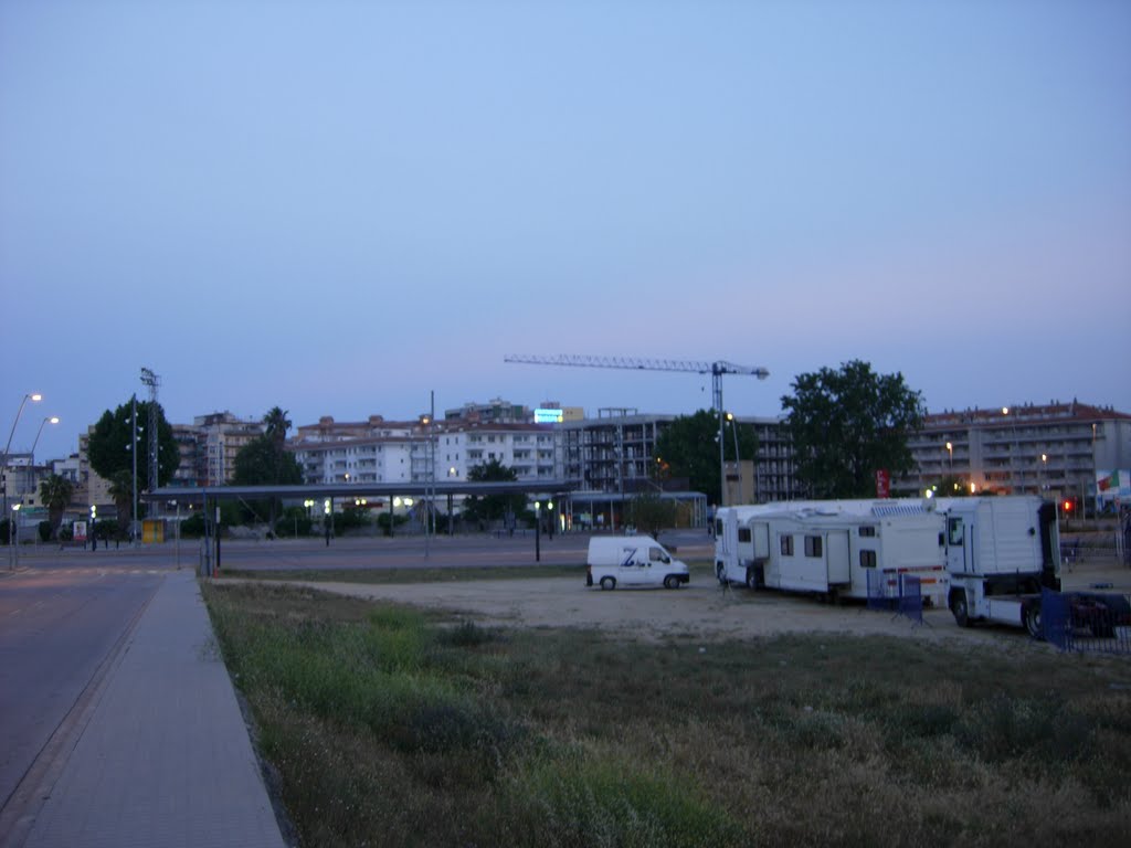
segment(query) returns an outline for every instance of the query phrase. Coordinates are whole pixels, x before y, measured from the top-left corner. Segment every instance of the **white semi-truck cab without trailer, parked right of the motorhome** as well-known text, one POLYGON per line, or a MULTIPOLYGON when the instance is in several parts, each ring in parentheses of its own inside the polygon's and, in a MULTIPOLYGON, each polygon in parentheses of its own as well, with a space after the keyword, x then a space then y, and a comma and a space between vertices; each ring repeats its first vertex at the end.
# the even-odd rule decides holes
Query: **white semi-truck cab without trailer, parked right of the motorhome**
POLYGON ((1041 639, 1041 590, 1060 591, 1056 507, 1035 495, 940 499, 950 612, 959 626, 993 621, 1041 639))

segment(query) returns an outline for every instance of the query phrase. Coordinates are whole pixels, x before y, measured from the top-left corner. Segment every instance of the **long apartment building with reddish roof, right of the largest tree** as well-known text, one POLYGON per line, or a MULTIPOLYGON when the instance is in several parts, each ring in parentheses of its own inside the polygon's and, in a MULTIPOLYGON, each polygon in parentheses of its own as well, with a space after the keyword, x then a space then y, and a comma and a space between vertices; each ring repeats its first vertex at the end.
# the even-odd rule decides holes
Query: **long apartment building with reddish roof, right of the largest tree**
POLYGON ((892 493, 953 479, 969 491, 1034 493, 1091 504, 1099 470, 1131 467, 1131 415, 1076 400, 932 413, 909 442, 916 471, 892 493))

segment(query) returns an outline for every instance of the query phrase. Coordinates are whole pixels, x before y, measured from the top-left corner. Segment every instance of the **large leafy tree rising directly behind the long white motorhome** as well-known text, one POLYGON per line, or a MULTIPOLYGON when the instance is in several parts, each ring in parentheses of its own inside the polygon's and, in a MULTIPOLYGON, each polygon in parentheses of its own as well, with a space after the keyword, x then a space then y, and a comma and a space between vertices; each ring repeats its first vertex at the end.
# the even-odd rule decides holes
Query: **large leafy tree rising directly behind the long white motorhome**
POLYGON ((817 497, 871 497, 875 473, 914 465, 908 438, 923 425, 922 395, 900 373, 878 374, 853 360, 839 371, 798 374, 782 398, 795 474, 817 497))

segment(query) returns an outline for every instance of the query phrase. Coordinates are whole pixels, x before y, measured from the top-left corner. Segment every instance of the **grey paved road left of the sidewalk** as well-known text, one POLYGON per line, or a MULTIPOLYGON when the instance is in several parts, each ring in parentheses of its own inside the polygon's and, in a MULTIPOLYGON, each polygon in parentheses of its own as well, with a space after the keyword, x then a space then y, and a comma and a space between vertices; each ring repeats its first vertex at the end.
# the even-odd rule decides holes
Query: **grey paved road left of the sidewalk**
POLYGON ((0 574, 0 807, 165 572, 104 557, 0 574))

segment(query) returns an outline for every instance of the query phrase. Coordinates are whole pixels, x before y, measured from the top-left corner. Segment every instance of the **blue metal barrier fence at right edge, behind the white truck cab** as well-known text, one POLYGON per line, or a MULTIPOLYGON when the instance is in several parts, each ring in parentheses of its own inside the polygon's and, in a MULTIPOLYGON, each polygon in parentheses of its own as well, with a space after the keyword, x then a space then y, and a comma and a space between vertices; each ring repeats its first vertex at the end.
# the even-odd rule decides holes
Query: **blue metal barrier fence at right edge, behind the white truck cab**
POLYGON ((1131 600, 1119 592, 1041 594, 1041 629, 1062 651, 1131 654, 1131 600))

